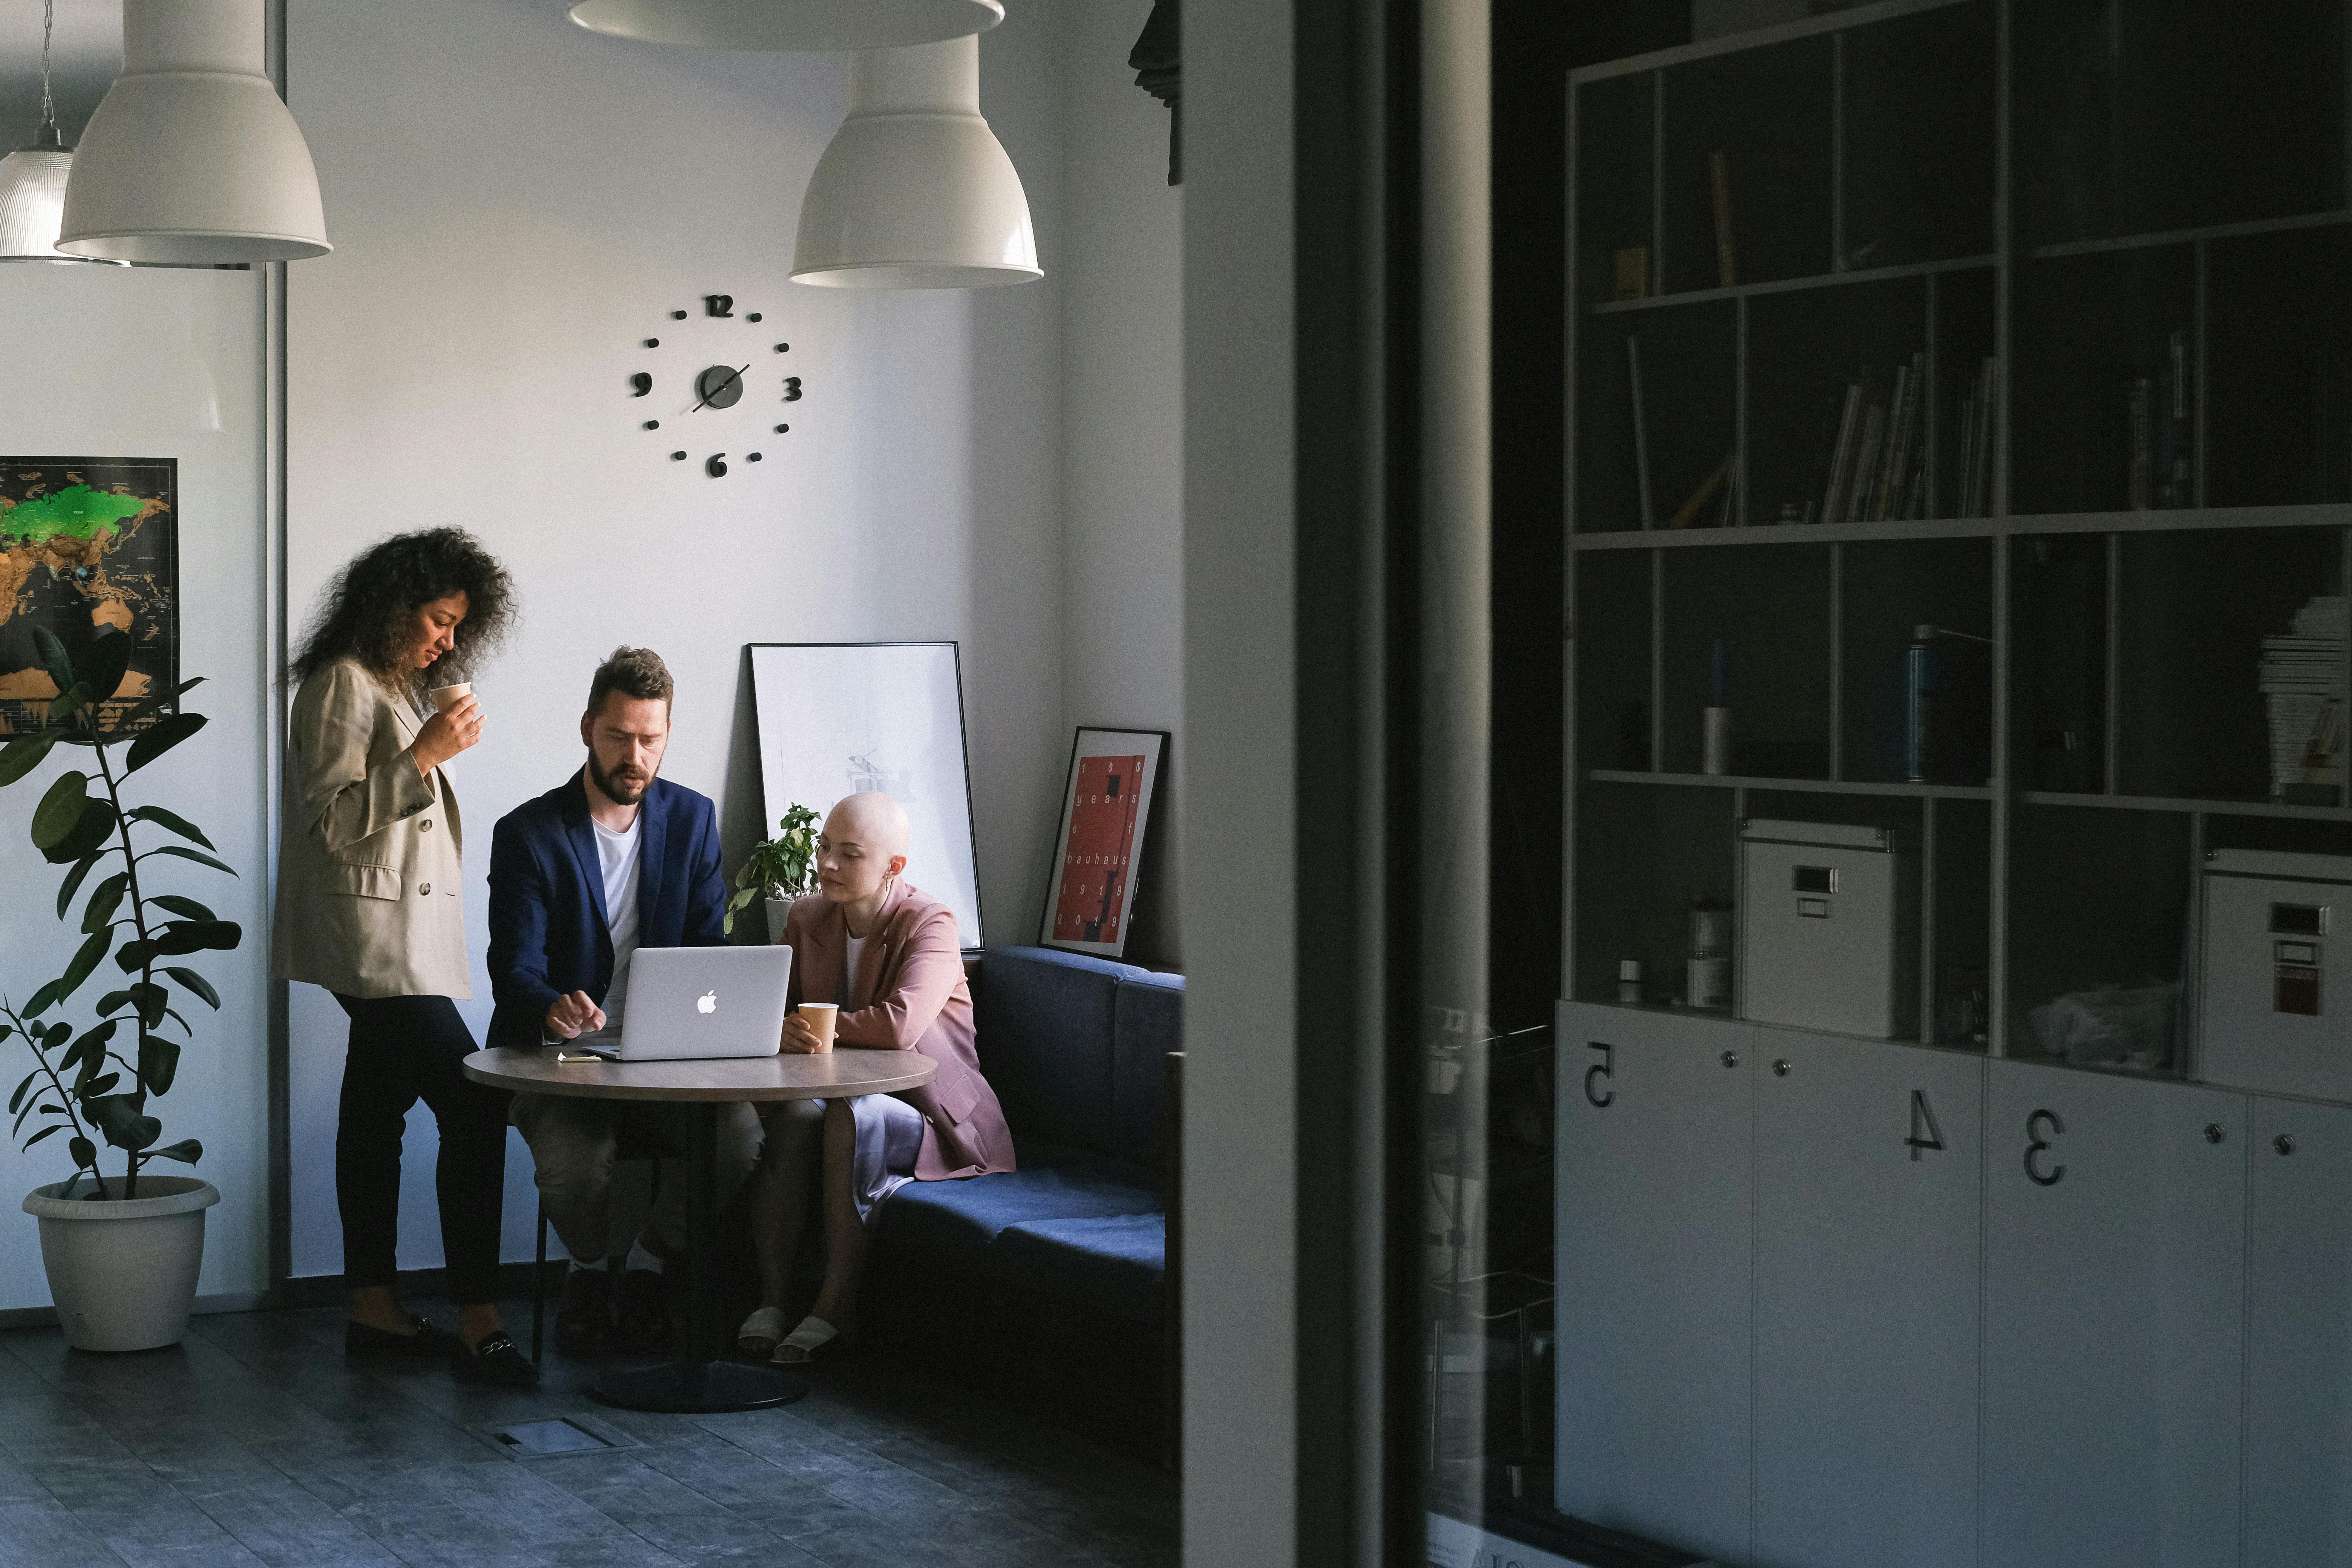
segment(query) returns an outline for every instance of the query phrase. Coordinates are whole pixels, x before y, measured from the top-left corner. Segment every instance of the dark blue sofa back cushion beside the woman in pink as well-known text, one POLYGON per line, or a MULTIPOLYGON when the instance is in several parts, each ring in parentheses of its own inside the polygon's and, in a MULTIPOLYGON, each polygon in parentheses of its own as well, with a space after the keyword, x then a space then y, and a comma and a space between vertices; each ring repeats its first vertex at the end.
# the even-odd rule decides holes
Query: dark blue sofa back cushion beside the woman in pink
MULTIPOLYGON (((1145 973, 1049 947, 993 947, 981 964, 981 1072, 1016 1135, 1122 1154, 1112 1124, 1112 994, 1145 973)), ((1131 1154, 1129 1154, 1131 1157, 1131 1154)))

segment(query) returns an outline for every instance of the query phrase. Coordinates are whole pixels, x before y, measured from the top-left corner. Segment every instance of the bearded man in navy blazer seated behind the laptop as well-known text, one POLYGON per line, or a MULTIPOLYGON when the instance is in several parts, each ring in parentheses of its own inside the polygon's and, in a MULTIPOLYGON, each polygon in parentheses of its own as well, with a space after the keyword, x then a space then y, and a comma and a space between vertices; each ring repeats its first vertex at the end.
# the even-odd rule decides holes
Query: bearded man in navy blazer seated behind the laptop
MULTIPOLYGON (((652 649, 614 649, 588 682, 579 773, 515 806, 489 846, 489 1018, 494 1046, 557 1046, 628 1011, 637 947, 717 947, 727 886, 710 797, 666 778, 670 670, 652 649)), ((623 1143, 677 1154, 687 1110, 626 1100, 515 1095, 513 1124, 532 1145, 539 1197, 572 1253, 555 1347, 593 1356, 614 1340, 668 1347, 663 1269, 687 1239, 687 1173, 670 1157, 656 1173, 647 1227, 614 1234, 612 1168, 623 1143), (626 1253, 614 1284, 614 1262, 626 1253)), ((720 1192, 727 1204, 760 1157, 750 1105, 720 1107, 720 1192)))

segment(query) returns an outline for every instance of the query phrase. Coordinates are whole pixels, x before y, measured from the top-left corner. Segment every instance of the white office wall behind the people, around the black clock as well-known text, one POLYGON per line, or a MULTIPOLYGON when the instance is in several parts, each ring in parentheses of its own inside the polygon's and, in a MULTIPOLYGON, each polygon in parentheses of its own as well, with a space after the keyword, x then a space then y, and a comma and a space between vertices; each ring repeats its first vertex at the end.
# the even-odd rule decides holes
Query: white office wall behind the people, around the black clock
MULTIPOLYGON (((800 190, 847 103, 840 59, 623 45, 572 28, 555 0, 287 9, 289 99, 336 242, 289 268, 292 614, 367 541, 437 522, 482 534, 524 588, 522 632, 482 672, 492 738, 459 764, 475 952, 489 825, 572 771, 588 670, 621 639, 661 649, 680 677, 668 776, 720 799, 729 858, 762 830, 753 639, 962 642, 990 943, 1035 938, 1073 724, 1178 733, 1160 818, 1174 846, 1181 197, 1164 183, 1167 110, 1124 66, 1148 0, 1023 0, 983 40, 983 108, 1028 186, 1047 280, 969 296, 786 282, 800 190), (790 341, 769 360, 807 388, 774 409, 793 433, 753 425, 764 461, 727 480, 699 458, 750 449, 748 430, 713 442, 694 428, 710 414, 694 416, 696 461, 670 463, 670 428, 637 430, 661 397, 626 397, 633 369, 675 381, 706 362, 637 343, 701 334, 666 313, 708 292, 762 310, 746 341, 790 341)), ((242 898, 252 931, 216 964, 235 969, 223 1070, 167 1103, 228 1194, 207 1293, 259 1291, 268 1251, 259 287, 252 273, 0 268, 0 371, 45 388, 38 407, 0 400, 0 449, 183 461, 186 658, 212 677, 214 717, 183 752, 186 799, 249 867, 212 903, 230 914, 242 898), (219 393, 219 430, 191 423, 191 386, 219 393)), ((1178 957, 1174 865, 1143 889, 1160 961, 1178 957)), ((54 872, 0 813, 0 886, 28 884, 38 900, 0 898, 0 950, 38 983, 68 950, 47 917, 54 872)), ((480 1027, 480 969, 475 990, 480 1027)), ((294 992, 294 1272, 322 1274, 341 1267, 343 1018, 294 992)), ((440 1262, 433 1147, 419 1110, 409 1267, 440 1262)), ((0 1164, 31 1187, 59 1175, 45 1152, 0 1164)), ((527 1248, 527 1168, 517 1145, 508 1255, 527 1248)), ((42 1305, 31 1225, 0 1237, 0 1309, 42 1305)))

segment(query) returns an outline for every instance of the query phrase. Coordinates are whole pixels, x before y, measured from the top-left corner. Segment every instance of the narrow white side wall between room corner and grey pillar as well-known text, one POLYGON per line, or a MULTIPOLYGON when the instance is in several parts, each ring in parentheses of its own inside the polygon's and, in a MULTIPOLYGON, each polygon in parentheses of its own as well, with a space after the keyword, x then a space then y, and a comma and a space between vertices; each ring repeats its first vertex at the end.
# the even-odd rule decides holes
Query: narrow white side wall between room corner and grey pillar
MULTIPOLYGON (((1183 823, 1183 186, 1127 66, 1150 0, 1063 9, 1063 705, 1174 731, 1152 835, 1183 823)), ((1183 966, 1178 856, 1148 863, 1129 957, 1183 966), (1152 877, 1157 872, 1157 879, 1152 877)))

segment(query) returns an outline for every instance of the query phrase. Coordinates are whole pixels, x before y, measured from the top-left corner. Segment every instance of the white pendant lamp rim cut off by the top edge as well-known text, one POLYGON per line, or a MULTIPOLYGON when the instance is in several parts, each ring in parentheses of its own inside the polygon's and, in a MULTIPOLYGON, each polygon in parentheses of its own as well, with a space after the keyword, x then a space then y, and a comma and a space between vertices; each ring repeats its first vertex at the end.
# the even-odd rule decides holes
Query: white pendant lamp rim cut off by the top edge
POLYGON ((579 0, 590 33, 694 49, 898 49, 1004 21, 1000 0, 579 0))

